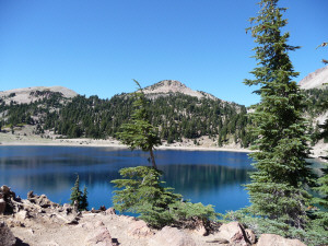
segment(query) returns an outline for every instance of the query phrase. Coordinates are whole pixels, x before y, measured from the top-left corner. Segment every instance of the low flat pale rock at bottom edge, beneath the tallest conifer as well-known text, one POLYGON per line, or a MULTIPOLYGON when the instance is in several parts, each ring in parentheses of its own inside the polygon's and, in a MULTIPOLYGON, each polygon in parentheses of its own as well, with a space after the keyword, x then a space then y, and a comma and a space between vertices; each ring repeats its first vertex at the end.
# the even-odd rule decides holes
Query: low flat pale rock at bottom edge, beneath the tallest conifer
POLYGON ((257 246, 306 246, 298 239, 288 239, 274 234, 262 234, 257 246))

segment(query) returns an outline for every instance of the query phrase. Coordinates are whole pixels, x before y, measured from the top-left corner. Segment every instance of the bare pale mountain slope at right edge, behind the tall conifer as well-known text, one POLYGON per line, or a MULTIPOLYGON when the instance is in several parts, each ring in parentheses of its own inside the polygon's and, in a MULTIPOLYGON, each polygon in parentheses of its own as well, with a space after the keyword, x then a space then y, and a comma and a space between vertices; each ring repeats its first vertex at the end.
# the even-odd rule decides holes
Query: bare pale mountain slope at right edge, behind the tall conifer
POLYGON ((300 81, 301 89, 323 89, 324 83, 328 83, 328 66, 320 68, 300 81))

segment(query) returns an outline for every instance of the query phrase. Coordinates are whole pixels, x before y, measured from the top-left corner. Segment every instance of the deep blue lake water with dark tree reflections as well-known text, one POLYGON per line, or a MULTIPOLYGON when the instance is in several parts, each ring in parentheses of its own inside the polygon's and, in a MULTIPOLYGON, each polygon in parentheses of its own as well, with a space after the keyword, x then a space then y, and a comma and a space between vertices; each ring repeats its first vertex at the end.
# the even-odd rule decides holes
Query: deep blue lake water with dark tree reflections
MULTIPOLYGON (((155 152, 167 186, 192 202, 215 206, 216 212, 249 204, 242 187, 249 181, 251 160, 247 153, 216 151, 155 152)), ((55 202, 69 202, 75 174, 80 188, 89 191, 90 208, 112 206, 114 186, 122 167, 148 165, 141 151, 87 147, 0 147, 0 185, 22 198, 30 190, 55 202)))

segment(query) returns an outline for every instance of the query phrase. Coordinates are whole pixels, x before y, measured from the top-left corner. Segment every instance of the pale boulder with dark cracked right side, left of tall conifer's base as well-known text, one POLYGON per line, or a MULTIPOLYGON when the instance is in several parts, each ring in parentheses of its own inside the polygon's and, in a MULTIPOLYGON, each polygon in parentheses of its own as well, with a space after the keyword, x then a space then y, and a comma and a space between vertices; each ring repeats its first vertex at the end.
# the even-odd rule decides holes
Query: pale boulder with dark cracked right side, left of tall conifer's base
POLYGON ((214 234, 214 237, 226 239, 236 246, 250 245, 243 225, 241 225, 238 222, 222 224, 219 229, 219 233, 214 234))

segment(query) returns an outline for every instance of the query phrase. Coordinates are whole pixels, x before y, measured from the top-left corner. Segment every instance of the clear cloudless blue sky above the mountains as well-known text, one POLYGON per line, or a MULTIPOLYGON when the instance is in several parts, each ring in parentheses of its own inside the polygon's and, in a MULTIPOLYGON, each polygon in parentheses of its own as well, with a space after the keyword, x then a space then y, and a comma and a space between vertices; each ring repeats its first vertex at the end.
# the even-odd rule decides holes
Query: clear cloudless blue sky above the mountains
MULTIPOLYGON (((62 85, 109 98, 172 79, 244 105, 257 0, 0 0, 0 91, 62 85)), ((328 0, 281 0, 300 81, 324 67, 328 0)))

